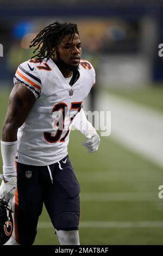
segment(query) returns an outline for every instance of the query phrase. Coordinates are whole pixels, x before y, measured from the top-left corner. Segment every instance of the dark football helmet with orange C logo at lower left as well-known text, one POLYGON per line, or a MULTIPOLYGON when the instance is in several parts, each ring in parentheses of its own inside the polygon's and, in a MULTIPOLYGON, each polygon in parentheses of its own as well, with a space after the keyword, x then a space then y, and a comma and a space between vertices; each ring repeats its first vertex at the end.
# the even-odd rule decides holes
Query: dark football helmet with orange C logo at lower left
POLYGON ((0 245, 4 245, 13 230, 12 204, 0 198, 0 245))

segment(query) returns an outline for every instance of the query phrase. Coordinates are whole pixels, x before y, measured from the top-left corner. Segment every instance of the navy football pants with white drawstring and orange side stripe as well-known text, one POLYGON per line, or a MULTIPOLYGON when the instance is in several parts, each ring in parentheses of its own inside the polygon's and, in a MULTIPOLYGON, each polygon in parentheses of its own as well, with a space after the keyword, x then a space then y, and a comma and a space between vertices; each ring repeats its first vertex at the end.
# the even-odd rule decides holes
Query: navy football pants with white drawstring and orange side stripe
POLYGON ((15 194, 15 238, 21 245, 32 245, 37 222, 46 206, 57 230, 78 230, 80 187, 68 156, 49 166, 17 163, 15 194))

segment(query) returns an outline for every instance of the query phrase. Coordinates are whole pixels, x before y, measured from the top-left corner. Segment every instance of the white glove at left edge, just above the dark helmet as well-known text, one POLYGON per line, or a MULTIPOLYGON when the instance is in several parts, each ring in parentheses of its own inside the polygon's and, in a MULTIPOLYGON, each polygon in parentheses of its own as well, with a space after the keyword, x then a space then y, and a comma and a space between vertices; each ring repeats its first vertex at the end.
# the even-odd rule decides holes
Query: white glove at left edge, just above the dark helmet
POLYGON ((12 199, 15 195, 16 185, 17 185, 16 177, 10 178, 7 183, 5 183, 4 180, 2 180, 1 187, 0 187, 0 198, 6 201, 12 199))

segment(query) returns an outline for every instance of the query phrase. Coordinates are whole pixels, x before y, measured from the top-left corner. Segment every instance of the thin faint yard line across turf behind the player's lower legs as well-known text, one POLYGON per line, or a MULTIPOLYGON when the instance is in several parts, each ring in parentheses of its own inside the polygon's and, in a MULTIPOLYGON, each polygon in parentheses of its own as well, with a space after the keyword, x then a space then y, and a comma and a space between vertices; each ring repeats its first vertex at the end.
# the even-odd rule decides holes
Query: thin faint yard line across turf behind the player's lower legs
MULTIPOLYGON (((39 222, 38 228, 53 228, 51 222, 39 222)), ((163 228, 163 221, 83 221, 79 228, 163 228)))

